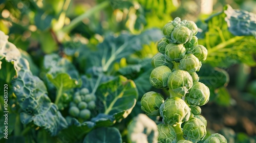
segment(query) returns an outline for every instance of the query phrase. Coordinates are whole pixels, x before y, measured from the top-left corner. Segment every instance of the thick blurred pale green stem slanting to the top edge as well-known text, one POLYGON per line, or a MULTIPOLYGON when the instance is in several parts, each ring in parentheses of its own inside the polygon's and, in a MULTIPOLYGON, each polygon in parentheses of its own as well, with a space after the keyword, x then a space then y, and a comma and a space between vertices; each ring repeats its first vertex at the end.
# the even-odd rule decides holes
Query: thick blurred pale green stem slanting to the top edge
POLYGON ((93 14, 95 14, 96 12, 100 11, 101 9, 104 9, 105 7, 109 6, 109 1, 104 1, 100 4, 98 4, 97 6, 93 7, 92 9, 88 10, 86 13, 83 13, 82 15, 76 17, 75 19, 73 19, 69 25, 63 27, 63 29, 61 30, 62 32, 68 33, 70 32, 72 29, 74 29, 79 22, 81 22, 84 18, 87 18, 93 14))

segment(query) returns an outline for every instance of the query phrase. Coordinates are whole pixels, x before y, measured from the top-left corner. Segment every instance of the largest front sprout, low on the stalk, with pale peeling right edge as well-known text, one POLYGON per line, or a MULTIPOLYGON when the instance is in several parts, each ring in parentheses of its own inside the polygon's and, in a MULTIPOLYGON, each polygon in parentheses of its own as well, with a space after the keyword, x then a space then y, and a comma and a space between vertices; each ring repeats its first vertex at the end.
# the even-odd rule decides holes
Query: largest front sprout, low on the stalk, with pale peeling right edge
POLYGON ((163 122, 170 126, 181 124, 188 121, 190 116, 190 108, 185 101, 178 97, 168 98, 161 104, 160 115, 163 117, 163 122))

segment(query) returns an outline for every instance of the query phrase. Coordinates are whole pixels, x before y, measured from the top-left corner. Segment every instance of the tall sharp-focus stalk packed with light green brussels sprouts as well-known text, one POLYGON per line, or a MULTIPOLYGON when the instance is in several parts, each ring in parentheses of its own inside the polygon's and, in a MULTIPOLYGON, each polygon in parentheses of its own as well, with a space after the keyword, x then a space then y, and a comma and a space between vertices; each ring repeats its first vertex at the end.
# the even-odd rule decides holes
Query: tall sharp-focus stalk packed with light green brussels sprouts
POLYGON ((227 142, 220 134, 205 139, 207 122, 199 106, 209 101, 210 91, 199 82, 196 71, 206 60, 207 49, 198 44, 197 32, 193 21, 181 21, 179 17, 169 21, 157 44, 159 53, 152 58, 150 83, 167 89, 170 97, 164 99, 160 93, 147 92, 141 99, 141 109, 147 115, 162 117, 159 142, 227 142))

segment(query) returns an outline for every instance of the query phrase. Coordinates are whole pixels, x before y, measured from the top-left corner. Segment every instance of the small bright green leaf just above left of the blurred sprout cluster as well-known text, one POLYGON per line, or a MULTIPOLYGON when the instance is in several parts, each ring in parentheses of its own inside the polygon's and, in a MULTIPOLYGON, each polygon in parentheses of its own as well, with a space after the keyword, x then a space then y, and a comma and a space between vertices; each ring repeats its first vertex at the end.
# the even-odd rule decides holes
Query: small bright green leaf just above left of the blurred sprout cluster
POLYGON ((77 80, 71 79, 71 77, 65 73, 57 74, 57 76, 55 78, 53 78, 52 75, 47 74, 47 78, 52 82, 52 84, 57 89, 61 88, 63 91, 79 86, 77 80))

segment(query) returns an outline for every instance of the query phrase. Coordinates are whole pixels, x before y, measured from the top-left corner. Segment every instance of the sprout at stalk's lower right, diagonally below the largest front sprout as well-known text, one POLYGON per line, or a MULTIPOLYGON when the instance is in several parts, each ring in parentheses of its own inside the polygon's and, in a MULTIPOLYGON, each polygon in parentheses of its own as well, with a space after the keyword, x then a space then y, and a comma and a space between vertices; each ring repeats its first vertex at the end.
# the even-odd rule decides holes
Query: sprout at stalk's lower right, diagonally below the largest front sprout
POLYGON ((198 142, 206 135, 206 127, 199 118, 191 117, 183 125, 183 134, 186 140, 198 142))

